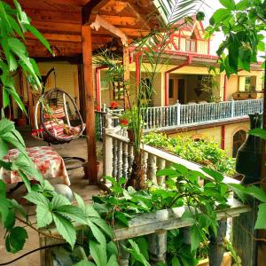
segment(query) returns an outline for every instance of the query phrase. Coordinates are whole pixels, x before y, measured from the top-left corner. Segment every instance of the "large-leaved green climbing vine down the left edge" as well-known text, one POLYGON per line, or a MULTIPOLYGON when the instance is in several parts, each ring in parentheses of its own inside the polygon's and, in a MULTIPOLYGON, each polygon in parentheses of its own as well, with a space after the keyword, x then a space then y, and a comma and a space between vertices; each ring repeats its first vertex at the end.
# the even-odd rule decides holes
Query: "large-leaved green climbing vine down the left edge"
MULTIPOLYGON (((0 216, 5 230, 5 247, 11 253, 23 249, 28 238, 27 228, 30 227, 47 238, 65 239, 74 248, 75 245, 82 245, 84 241, 77 236, 74 225, 80 223, 84 228, 84 235, 90 237, 91 256, 98 266, 100 265, 98 264, 98 246, 100 245, 101 252, 105 253, 108 244, 112 243, 113 231, 92 206, 85 205, 79 195, 75 195, 78 206, 74 206, 66 197, 55 192, 53 186, 43 179, 33 161, 27 156, 26 145, 19 131, 15 129, 14 123, 4 118, 4 108, 10 105, 10 97, 16 101, 23 112, 26 112, 14 88, 13 74, 19 68, 25 74, 31 89, 42 90, 41 76, 35 60, 28 57, 24 34, 27 31, 31 32, 51 51, 49 43, 30 24, 27 14, 22 11, 16 0, 14 5, 13 9, 9 4, 0 1, 0 79, 3 93, 0 120, 0 167, 18 172, 27 188, 24 198, 36 206, 36 224, 28 218, 24 207, 6 196, 5 184, 0 180, 0 216), (17 148, 20 155, 16 159, 5 161, 4 156, 11 147, 17 148), (29 179, 33 177, 38 184, 30 184, 29 179), (24 226, 17 226, 16 221, 20 221, 24 226), (45 231, 49 227, 55 227, 57 231, 53 233, 45 231), (106 244, 107 241, 108 244, 106 244), (103 246, 106 248, 103 249, 103 246)), ((102 254, 101 257, 103 257, 102 254)), ((116 262, 116 255, 109 256, 109 265, 115 265, 113 262, 116 262)), ((106 266, 107 263, 102 265, 106 266)))

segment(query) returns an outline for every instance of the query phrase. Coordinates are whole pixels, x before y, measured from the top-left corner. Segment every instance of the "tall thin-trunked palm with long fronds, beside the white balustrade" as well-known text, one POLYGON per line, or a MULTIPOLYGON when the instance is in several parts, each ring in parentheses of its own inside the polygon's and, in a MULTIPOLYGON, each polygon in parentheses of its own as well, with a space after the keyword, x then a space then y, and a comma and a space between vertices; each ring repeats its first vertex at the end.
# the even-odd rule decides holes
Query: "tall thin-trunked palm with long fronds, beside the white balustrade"
POLYGON ((190 23, 192 18, 188 16, 198 12, 200 5, 203 3, 203 0, 158 0, 154 2, 160 10, 160 15, 156 16, 157 28, 153 29, 149 35, 130 44, 139 54, 137 60, 142 70, 137 86, 123 80, 124 69, 106 52, 101 53, 95 60, 95 63, 109 67, 107 71, 109 78, 111 77, 112 79, 112 77, 119 75, 123 83, 124 94, 129 102, 127 113, 130 116, 130 128, 134 134, 134 160, 128 185, 137 190, 145 189, 143 156, 141 153, 141 137, 145 113, 149 100, 153 96, 154 82, 160 70, 159 68, 163 64, 168 64, 165 49, 168 46, 169 36, 184 24, 190 23), (184 20, 184 18, 186 19, 184 20), (145 80, 148 79, 150 82, 144 82, 143 78, 145 80), (135 91, 133 96, 130 91, 135 91))

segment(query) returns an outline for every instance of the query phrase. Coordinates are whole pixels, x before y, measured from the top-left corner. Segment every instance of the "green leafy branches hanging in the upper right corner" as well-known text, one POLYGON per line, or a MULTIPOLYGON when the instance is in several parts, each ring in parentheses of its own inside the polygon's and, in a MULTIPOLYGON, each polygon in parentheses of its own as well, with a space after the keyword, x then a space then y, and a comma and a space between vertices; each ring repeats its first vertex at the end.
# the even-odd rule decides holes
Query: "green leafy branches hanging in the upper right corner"
POLYGON ((213 14, 207 27, 207 36, 223 32, 225 40, 217 54, 220 71, 237 74, 239 68, 250 71, 250 65, 257 62, 258 51, 264 51, 263 30, 266 26, 265 1, 220 0, 224 8, 213 14))

